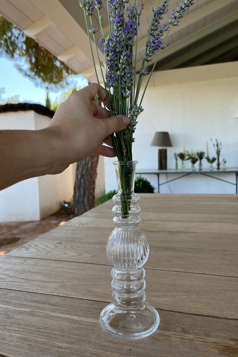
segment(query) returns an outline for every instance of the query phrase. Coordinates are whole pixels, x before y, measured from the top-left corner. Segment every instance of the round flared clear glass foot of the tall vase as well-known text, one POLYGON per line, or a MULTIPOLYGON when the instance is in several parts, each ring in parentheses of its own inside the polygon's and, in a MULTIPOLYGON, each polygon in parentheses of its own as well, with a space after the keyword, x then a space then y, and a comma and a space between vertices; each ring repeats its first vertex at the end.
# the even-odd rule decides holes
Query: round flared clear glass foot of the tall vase
POLYGON ((144 303, 143 310, 118 310, 112 303, 100 314, 104 330, 115 337, 133 340, 155 332, 159 326, 159 314, 153 306, 144 303))

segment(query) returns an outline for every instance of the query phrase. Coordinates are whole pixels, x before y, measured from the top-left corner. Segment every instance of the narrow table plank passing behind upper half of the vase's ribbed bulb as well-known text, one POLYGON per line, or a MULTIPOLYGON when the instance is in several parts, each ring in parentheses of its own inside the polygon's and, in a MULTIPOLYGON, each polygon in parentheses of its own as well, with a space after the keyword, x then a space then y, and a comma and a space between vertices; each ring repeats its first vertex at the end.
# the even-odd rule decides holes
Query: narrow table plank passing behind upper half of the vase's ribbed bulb
MULTIPOLYGON (((57 239, 59 241, 74 240, 86 242, 107 242, 112 229, 109 227, 74 227, 60 226, 43 234, 45 239, 57 239)), ((237 233, 190 233, 172 231, 143 230, 149 245, 165 247, 212 249, 224 251, 238 251, 237 233)))

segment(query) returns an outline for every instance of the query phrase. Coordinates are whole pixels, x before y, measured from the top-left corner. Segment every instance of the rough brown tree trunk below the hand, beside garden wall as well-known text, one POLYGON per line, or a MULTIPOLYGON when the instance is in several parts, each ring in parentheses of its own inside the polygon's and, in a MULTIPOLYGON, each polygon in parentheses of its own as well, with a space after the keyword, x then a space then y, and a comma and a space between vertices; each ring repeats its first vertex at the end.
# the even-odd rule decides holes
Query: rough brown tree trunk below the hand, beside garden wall
POLYGON ((79 216, 94 207, 97 163, 96 154, 91 154, 77 163, 72 207, 75 215, 79 216))

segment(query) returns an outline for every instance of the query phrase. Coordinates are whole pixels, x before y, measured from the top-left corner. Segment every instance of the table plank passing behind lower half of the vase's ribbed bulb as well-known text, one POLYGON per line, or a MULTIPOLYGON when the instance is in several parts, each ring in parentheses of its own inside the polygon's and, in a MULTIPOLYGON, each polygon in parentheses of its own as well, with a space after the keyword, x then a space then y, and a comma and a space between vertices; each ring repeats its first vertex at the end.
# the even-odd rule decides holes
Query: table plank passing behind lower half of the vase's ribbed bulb
MULTIPOLYGON (((8 256, 110 265, 106 244, 37 238, 8 256)), ((238 253, 150 246, 145 268, 238 277, 238 253)))

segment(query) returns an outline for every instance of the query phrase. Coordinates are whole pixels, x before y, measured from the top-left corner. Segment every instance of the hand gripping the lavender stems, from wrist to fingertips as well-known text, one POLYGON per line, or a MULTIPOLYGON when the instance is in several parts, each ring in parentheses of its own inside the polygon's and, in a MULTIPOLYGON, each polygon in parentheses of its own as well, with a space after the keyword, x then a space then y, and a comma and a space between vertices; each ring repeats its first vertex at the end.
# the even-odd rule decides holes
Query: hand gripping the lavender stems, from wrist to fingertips
MULTIPOLYGON (((111 146, 110 134, 125 129, 130 119, 123 115, 107 118, 105 109, 93 103, 98 94, 99 101, 102 102, 103 99, 108 107, 106 90, 102 87, 100 89, 97 84, 90 84, 72 93, 60 104, 46 129, 51 130, 57 139, 61 164, 69 165, 80 161, 92 152, 108 157, 115 156, 112 147, 100 143, 105 142, 111 146)), ((110 116, 110 111, 107 112, 110 116)))

